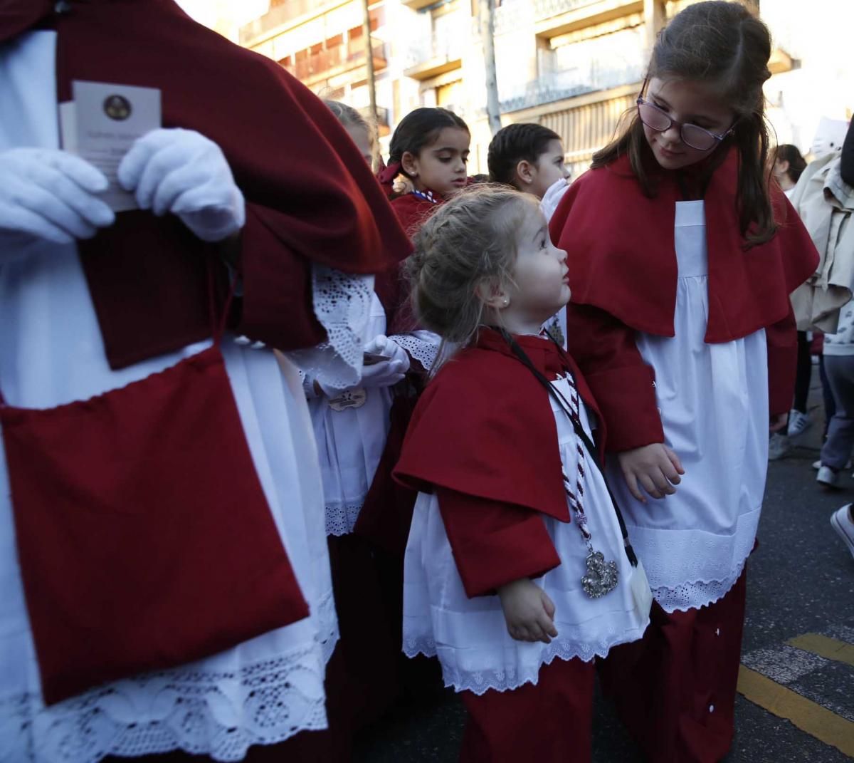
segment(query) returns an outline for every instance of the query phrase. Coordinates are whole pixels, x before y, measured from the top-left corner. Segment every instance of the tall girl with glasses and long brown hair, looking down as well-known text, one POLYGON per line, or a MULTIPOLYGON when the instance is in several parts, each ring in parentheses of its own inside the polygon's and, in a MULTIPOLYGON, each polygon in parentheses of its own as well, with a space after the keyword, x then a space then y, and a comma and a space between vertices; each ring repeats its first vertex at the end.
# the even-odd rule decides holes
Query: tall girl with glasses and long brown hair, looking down
POLYGON ((575 295, 569 350, 656 599, 604 686, 655 763, 720 760, 733 738, 745 563, 793 393, 788 295, 817 263, 769 181, 770 51, 740 3, 681 11, 628 124, 551 225, 575 295))

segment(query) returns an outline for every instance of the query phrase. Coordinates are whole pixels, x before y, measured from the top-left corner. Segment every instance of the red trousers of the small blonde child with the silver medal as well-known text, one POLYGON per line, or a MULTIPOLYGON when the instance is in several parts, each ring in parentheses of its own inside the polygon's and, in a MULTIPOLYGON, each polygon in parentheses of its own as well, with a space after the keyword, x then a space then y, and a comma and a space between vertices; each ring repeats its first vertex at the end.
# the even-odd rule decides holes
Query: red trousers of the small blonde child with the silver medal
POLYGON ((460 692, 469 713, 461 763, 589 763, 594 665, 554 659, 536 684, 460 692))

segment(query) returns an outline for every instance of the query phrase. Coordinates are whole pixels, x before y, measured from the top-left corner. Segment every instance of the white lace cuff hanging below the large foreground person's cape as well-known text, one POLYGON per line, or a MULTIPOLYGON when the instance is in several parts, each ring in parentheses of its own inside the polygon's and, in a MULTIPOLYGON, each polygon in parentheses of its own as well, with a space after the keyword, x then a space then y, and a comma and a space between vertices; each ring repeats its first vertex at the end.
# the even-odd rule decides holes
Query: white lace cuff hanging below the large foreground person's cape
POLYGON ((326 341, 288 352, 307 376, 335 389, 355 387, 362 375, 362 334, 371 311, 372 275, 349 275, 324 265, 312 266, 314 315, 326 341))

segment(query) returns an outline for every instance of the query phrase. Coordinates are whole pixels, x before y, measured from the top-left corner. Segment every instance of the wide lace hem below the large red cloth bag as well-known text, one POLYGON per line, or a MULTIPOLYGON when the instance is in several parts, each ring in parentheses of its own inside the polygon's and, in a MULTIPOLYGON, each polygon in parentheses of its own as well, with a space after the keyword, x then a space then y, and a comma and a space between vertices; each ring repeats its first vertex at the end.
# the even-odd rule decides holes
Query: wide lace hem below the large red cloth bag
POLYGON ((324 674, 308 646, 233 671, 147 674, 50 708, 37 695, 15 695, 0 700, 0 760, 97 763, 176 749, 243 760, 250 745, 327 727, 324 674))

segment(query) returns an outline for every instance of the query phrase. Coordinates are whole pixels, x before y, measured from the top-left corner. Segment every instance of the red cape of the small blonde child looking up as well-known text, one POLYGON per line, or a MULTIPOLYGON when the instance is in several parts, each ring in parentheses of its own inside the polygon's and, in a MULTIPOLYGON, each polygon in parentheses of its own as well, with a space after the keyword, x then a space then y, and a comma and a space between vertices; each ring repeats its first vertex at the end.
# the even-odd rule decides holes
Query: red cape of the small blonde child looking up
MULTIPOLYGON (((516 340, 547 378, 569 370, 599 415, 576 365, 551 340, 516 340)), ((601 423, 598 434, 602 447, 601 423)), ((482 329, 477 344, 459 351, 424 389, 394 476, 422 492, 449 488, 570 521, 548 393, 491 329, 482 329)))

